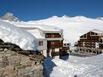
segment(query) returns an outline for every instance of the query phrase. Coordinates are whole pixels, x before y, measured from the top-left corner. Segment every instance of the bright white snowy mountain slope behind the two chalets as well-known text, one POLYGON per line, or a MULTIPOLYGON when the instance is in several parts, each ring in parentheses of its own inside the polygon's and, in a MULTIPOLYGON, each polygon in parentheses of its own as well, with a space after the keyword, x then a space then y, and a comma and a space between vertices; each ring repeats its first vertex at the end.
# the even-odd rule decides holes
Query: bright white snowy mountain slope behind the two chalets
POLYGON ((92 29, 103 30, 103 20, 101 18, 93 19, 84 16, 68 17, 53 16, 48 19, 29 21, 31 24, 45 24, 59 27, 64 30, 64 38, 70 43, 74 43, 79 36, 92 29))

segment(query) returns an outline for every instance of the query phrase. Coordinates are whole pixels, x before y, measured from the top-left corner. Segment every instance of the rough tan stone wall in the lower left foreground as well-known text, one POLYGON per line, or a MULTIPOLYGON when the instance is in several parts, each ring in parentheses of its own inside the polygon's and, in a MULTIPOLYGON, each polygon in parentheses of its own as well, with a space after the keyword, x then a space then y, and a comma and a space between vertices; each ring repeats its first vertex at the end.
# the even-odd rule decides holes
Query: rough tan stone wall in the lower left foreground
POLYGON ((43 77, 42 55, 0 50, 0 77, 43 77))

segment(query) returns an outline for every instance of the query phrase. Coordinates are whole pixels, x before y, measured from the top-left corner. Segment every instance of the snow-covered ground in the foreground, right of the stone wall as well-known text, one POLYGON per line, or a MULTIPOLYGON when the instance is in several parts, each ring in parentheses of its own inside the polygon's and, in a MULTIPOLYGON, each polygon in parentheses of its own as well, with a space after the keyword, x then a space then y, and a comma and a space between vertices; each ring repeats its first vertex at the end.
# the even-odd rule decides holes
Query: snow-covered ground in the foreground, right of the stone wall
POLYGON ((103 77, 103 54, 92 57, 69 56, 67 60, 47 58, 44 65, 46 77, 103 77))

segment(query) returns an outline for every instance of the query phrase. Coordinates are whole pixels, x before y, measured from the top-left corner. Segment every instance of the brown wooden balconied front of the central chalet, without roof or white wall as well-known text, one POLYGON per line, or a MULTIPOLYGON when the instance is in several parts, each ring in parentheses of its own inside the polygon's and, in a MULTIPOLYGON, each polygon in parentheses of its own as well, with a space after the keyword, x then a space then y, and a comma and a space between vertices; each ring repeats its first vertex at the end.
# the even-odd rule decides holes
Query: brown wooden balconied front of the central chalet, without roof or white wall
POLYGON ((63 37, 60 33, 46 33, 45 38, 47 38, 47 55, 54 57, 56 55, 64 55, 67 53, 67 48, 63 47, 63 37), (62 39, 61 39, 62 38, 62 39), (48 40, 50 39, 50 40, 48 40), (56 49, 59 49, 56 51, 56 49))

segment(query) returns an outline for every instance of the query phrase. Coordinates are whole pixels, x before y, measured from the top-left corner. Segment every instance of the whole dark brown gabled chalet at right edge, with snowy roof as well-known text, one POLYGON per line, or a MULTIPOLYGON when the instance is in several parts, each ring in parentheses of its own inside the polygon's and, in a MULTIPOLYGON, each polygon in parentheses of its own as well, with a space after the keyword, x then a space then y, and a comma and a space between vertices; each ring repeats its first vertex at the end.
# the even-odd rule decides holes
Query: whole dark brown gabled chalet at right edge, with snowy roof
POLYGON ((103 52, 103 31, 92 30, 80 36, 79 41, 75 44, 77 51, 89 53, 103 52))

